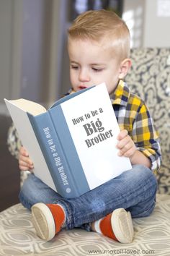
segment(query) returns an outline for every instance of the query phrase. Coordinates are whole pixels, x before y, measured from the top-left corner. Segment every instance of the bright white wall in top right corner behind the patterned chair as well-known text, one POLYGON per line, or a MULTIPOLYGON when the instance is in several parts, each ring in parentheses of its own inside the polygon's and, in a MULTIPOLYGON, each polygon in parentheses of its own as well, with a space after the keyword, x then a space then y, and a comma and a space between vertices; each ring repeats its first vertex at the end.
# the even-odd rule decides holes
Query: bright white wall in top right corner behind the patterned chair
POLYGON ((170 0, 124 0, 133 47, 170 47, 170 0), (163 15, 158 14, 163 9, 163 15))

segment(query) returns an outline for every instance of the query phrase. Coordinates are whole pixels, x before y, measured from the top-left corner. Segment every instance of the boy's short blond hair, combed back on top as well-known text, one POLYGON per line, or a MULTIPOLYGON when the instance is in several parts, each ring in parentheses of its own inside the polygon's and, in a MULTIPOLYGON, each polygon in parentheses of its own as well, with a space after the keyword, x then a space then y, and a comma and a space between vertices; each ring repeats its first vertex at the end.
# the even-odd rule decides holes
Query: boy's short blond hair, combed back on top
POLYGON ((68 29, 68 38, 102 41, 113 46, 120 61, 129 57, 130 33, 125 22, 112 11, 104 9, 80 14, 68 29))

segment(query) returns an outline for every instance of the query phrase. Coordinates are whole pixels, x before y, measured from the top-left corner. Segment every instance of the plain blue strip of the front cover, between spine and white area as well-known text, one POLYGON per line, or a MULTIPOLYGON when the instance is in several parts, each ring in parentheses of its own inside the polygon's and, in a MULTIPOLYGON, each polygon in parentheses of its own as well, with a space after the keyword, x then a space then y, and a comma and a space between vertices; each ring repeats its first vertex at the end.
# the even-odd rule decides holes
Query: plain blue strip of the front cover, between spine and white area
POLYGON ((61 105, 51 108, 49 113, 51 120, 53 121, 55 131, 58 133, 61 147, 63 148, 63 152, 66 156, 73 182, 76 184, 79 195, 83 195, 90 190, 90 187, 87 182, 86 175, 84 174, 84 169, 81 165, 79 154, 76 151, 61 105))

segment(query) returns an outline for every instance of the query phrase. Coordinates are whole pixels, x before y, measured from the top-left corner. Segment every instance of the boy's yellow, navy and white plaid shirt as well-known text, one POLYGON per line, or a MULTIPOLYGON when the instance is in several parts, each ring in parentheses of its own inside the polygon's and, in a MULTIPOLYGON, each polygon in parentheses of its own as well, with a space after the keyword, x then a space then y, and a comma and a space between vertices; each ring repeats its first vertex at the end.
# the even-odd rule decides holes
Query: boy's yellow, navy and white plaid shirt
MULTIPOLYGON (((73 90, 69 90, 70 93, 73 90)), ((146 104, 130 93, 128 85, 122 80, 112 93, 111 101, 120 129, 128 131, 137 149, 151 160, 151 170, 157 171, 161 166, 161 148, 146 104)))

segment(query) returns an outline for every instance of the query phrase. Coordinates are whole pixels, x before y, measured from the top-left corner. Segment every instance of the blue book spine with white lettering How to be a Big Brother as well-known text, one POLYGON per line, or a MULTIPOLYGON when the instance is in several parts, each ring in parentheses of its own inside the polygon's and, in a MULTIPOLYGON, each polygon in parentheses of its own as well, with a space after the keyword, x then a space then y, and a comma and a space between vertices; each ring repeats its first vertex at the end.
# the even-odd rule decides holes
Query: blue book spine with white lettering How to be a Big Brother
POLYGON ((55 188, 62 197, 78 197, 60 140, 55 132, 49 113, 32 116, 28 114, 35 136, 52 176, 55 188))

